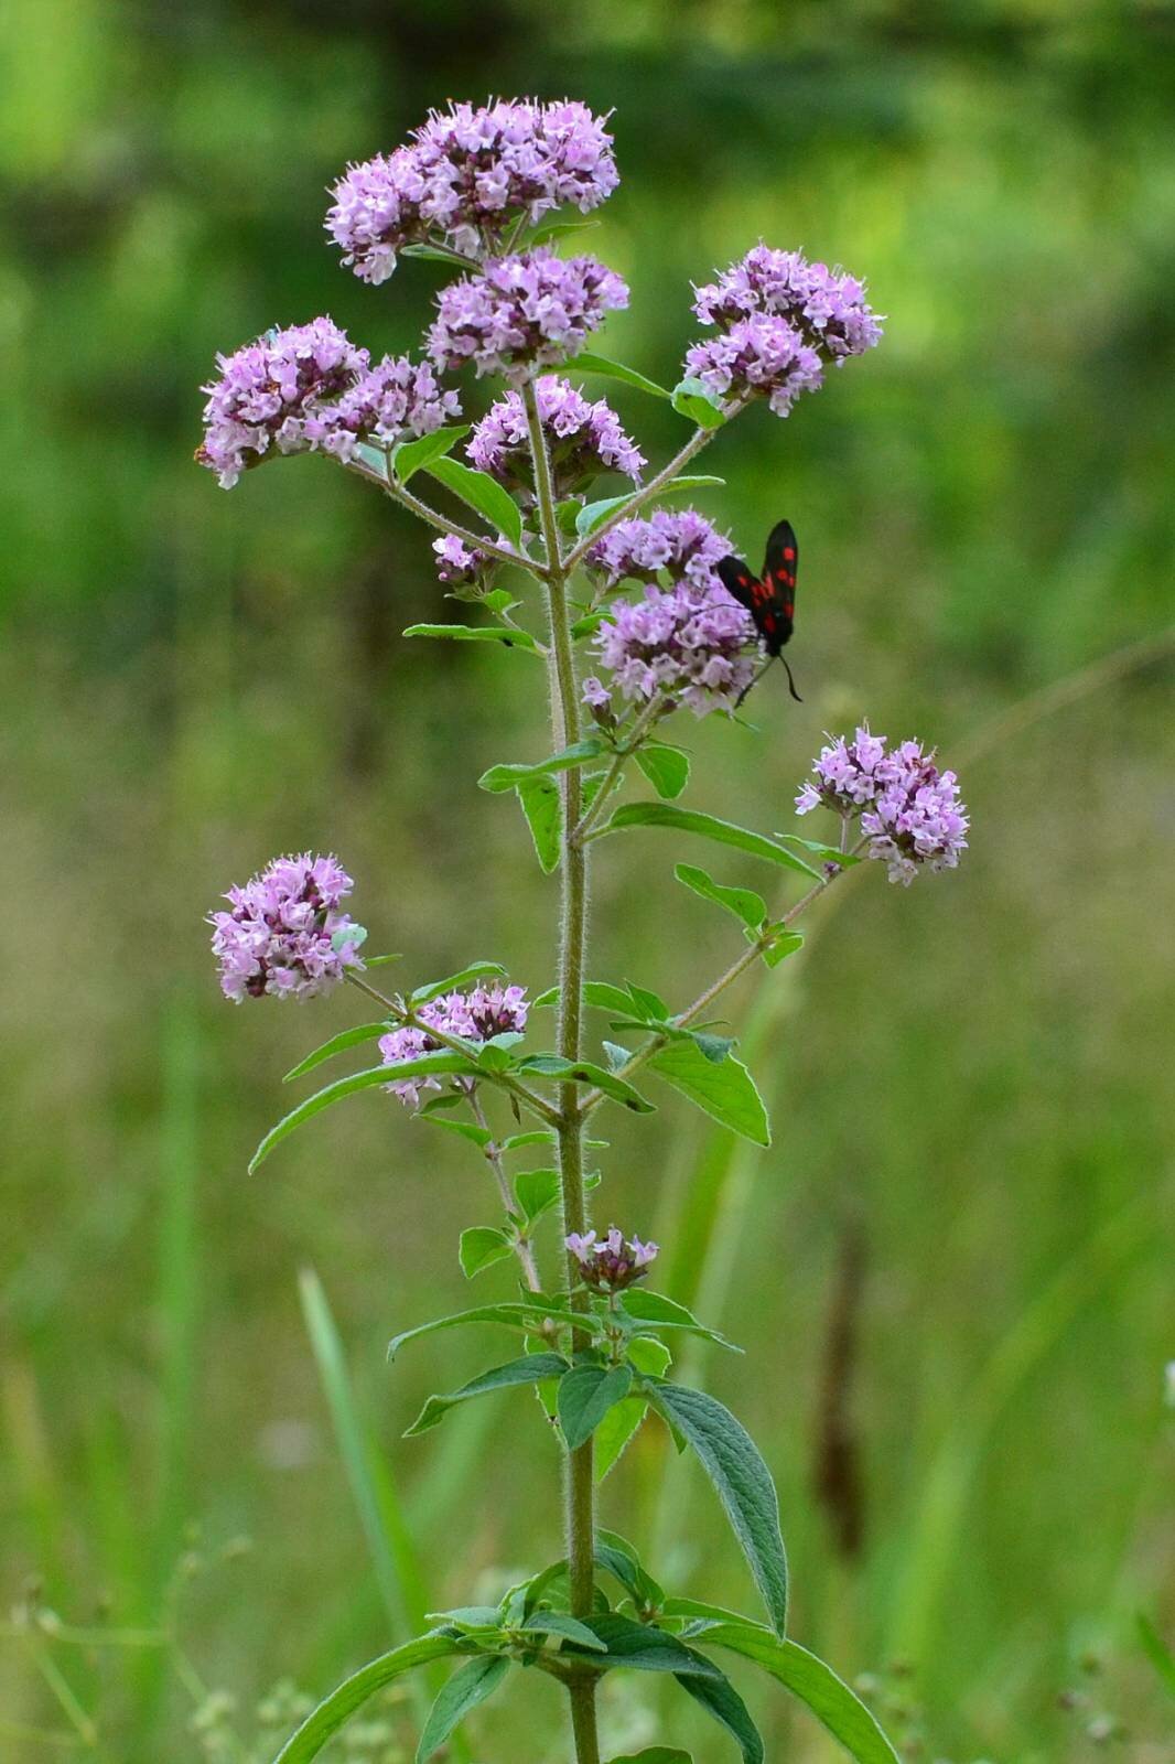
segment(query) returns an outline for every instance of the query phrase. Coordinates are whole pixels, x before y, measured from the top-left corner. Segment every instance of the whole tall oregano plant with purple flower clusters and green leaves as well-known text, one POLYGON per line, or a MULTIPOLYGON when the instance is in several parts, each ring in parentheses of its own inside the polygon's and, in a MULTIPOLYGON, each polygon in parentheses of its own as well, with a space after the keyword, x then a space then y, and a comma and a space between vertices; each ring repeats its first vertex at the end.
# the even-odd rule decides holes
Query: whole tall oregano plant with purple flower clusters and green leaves
MULTIPOLYGON (((372 362, 318 318, 221 356, 205 388, 198 459, 222 485, 279 455, 318 452, 432 527, 439 580, 468 605, 468 623, 438 617, 406 635, 501 646, 517 690, 545 691, 554 729, 550 753, 480 778, 517 797, 519 831, 529 829, 559 891, 559 942, 540 997, 459 947, 455 972, 386 988, 386 958, 367 953, 367 931, 346 908, 351 877, 333 856, 279 857, 212 914, 228 998, 311 998, 348 984, 363 1014, 288 1074, 300 1083, 319 1065, 360 1062, 279 1120, 252 1170, 323 1110, 381 1088, 422 1124, 468 1141, 492 1180, 498 1221, 471 1224, 459 1259, 475 1279, 513 1258, 517 1297, 422 1319, 392 1342, 392 1358, 453 1328, 471 1339, 489 1328, 508 1346, 457 1390, 430 1397, 408 1432, 441 1425, 466 1402, 538 1392, 563 1448, 566 1535, 561 1547, 550 1540, 550 1559, 498 1603, 438 1612, 427 1633, 339 1685, 281 1764, 309 1764, 374 1692, 432 1662, 453 1672, 420 1729, 418 1764, 489 1697, 520 1693, 528 1671, 566 1688, 577 1764, 600 1764, 596 1688, 616 1671, 670 1674, 745 1764, 757 1764, 762 1741, 723 1655, 792 1692, 859 1764, 894 1759, 833 1667, 787 1632, 787 1558, 759 1448, 722 1402, 672 1378, 683 1335, 729 1344, 655 1289, 655 1244, 593 1226, 589 1212, 609 1221, 609 1208, 589 1192, 598 1178, 586 1161, 596 1115, 662 1104, 695 1106, 766 1147, 767 1113, 715 1020, 718 1000, 748 968, 771 970, 799 949, 803 914, 849 866, 880 859, 891 880, 909 884, 954 866, 965 847, 954 776, 916 741, 891 746, 868 727, 829 737, 796 801, 801 815, 831 817, 820 841, 686 808, 690 762, 670 734, 690 714, 734 718, 780 647, 753 593, 736 598, 723 586, 725 577, 748 587, 752 577, 730 538, 670 499, 722 482, 690 467, 739 413, 766 400, 789 416, 831 367, 879 342, 880 321, 854 277, 760 243, 695 289, 706 337, 686 349, 676 388, 589 351, 628 289, 595 258, 561 254, 584 222, 550 217, 595 210, 616 183, 605 122, 582 104, 434 113, 408 145, 348 168, 326 215, 344 263, 372 286, 400 258, 452 270, 422 356, 372 362), (460 420, 452 385, 468 367, 505 383, 473 423, 460 420), (686 425, 672 459, 649 469, 610 406, 580 390, 584 379, 667 400, 686 425), (609 476, 628 489, 598 496, 609 476), (679 841, 677 882, 730 921, 730 961, 693 1000, 598 977, 607 926, 602 954, 589 954, 595 848, 642 829, 679 841), (720 875, 693 861, 702 841, 718 848, 720 875), (746 1559, 753 1616, 663 1588, 602 1524, 600 1482, 649 1418, 709 1476, 746 1559)), ((790 621, 794 552, 789 563, 790 621)), ((773 593, 766 584, 764 598, 773 593)), ((655 1746, 640 1757, 686 1753, 655 1746)))

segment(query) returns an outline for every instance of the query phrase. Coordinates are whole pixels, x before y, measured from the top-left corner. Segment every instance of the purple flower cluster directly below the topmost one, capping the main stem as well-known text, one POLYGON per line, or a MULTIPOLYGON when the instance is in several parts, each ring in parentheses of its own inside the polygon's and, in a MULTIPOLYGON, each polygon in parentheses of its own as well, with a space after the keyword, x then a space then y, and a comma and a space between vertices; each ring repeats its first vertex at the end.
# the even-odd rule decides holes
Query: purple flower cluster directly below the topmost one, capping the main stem
POLYGON ((429 355, 438 370, 473 362, 478 374, 520 383, 575 355, 607 312, 626 305, 628 288, 614 270, 540 247, 450 282, 438 296, 429 355))

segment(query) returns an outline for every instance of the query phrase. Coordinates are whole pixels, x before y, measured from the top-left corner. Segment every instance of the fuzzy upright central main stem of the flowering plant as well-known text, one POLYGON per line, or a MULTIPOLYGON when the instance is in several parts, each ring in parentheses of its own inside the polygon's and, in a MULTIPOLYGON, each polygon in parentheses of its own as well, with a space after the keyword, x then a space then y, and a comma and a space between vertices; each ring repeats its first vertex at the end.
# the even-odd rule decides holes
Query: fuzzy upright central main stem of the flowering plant
MULTIPOLYGON (((559 556, 559 526, 556 520, 550 460, 543 437, 535 385, 522 392, 526 420, 535 457, 535 494, 547 549, 547 610, 550 621, 550 700, 556 737, 570 746, 579 739, 579 697, 575 690, 575 658, 572 654, 572 619, 566 600, 566 570, 559 556)), ((584 960, 588 944, 588 854, 573 838, 582 815, 582 783, 579 767, 561 774, 563 794, 563 864, 559 901, 559 1053, 565 1060, 579 1060, 582 1039, 584 960)), ((563 1189, 565 1231, 584 1231, 588 1207, 584 1198, 584 1117, 573 1083, 559 1087, 559 1182, 563 1189)), ((565 1274, 566 1291, 573 1309, 588 1307, 588 1293, 575 1277, 573 1258, 568 1256, 565 1274)), ((579 1337, 573 1337, 579 1344, 579 1337)), ((591 1614, 595 1595, 595 1469, 591 1439, 566 1461, 566 1547, 572 1616, 591 1614)), ((595 1674, 577 1676, 568 1683, 572 1702, 572 1730, 577 1764, 600 1764, 596 1736, 596 1681, 595 1674)))

